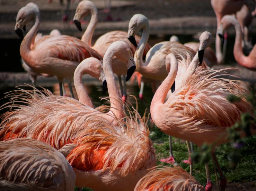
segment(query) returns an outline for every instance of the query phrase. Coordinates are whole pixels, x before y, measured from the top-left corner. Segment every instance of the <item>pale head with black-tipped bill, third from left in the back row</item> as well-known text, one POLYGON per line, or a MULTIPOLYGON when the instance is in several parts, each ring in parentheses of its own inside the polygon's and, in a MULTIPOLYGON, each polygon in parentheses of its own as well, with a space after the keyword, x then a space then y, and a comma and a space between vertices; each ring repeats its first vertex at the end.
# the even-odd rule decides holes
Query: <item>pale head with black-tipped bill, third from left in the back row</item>
POLYGON ((127 38, 135 47, 138 46, 135 40, 135 34, 144 28, 146 24, 148 25, 148 19, 143 14, 134 14, 129 22, 127 38))

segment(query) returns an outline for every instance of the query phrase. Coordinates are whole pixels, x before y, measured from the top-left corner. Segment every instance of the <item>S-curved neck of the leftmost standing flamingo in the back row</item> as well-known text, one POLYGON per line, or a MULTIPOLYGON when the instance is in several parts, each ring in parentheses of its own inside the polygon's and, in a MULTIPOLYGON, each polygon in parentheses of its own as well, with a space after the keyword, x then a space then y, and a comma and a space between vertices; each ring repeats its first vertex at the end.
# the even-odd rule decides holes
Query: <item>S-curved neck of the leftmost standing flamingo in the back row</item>
MULTIPOLYGON (((32 42, 35 41, 36 32, 38 31, 39 24, 40 24, 39 17, 40 17, 39 13, 35 12, 32 28, 28 31, 28 33, 26 34, 26 36, 24 37, 23 41, 20 44, 20 55, 22 58, 28 57, 29 53, 31 52, 30 47, 32 42)), ((26 63, 28 62, 26 61, 26 63)))

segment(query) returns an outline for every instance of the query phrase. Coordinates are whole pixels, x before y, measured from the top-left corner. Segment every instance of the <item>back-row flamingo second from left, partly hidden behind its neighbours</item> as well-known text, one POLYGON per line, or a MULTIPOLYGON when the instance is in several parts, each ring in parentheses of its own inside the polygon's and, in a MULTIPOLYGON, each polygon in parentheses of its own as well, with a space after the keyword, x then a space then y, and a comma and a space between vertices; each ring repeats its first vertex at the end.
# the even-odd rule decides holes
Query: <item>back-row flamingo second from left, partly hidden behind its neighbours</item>
MULTIPOLYGON (((100 36, 97 39, 97 41, 95 42, 94 46, 92 46, 91 45, 92 35, 93 35, 94 30, 98 23, 98 10, 97 10, 95 4, 92 3, 91 1, 87 1, 87 0, 81 1, 77 6, 76 14, 74 15, 73 20, 74 20, 74 23, 76 24, 78 30, 82 31, 81 19, 83 17, 86 17, 89 13, 91 13, 91 20, 90 20, 90 23, 89 23, 85 33, 83 34, 83 36, 81 38, 81 41, 83 41, 88 46, 90 46, 92 49, 97 51, 100 55, 104 56, 109 45, 112 42, 121 40, 130 46, 130 49, 132 50, 132 53, 134 54, 136 47, 134 47, 133 44, 127 39, 127 32, 124 32, 124 31, 107 32, 107 33, 103 34, 102 36, 100 36)), ((135 36, 135 40, 136 40, 136 42, 139 42, 140 37, 135 36)), ((151 47, 149 46, 149 44, 147 44, 145 46, 145 49, 143 52, 144 57, 150 48, 151 47)), ((126 84, 125 84, 125 81, 127 79, 126 80, 125 80, 125 78, 122 79, 121 76, 124 76, 126 74, 126 66, 123 62, 120 62, 118 59, 114 58, 112 61, 112 69, 113 69, 113 72, 118 77, 118 82, 119 82, 121 94, 122 94, 122 100, 125 101, 127 99, 126 84), (122 80, 123 80, 124 85, 122 85, 122 80)))

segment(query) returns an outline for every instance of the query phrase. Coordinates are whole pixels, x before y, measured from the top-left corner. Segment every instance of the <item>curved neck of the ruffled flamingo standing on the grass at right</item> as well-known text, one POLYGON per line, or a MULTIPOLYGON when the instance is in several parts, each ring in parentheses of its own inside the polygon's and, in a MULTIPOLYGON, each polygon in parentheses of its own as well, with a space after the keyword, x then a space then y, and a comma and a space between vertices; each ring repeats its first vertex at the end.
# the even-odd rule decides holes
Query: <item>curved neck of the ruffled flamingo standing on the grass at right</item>
MULTIPOLYGON (((157 91, 152 99, 150 108, 154 108, 156 105, 159 105, 159 104, 164 104, 167 93, 174 83, 177 72, 178 72, 177 61, 176 62, 171 61, 170 73, 168 74, 166 79, 162 82, 162 84, 157 89, 157 91)), ((150 111, 151 111, 151 109, 150 109, 150 111)))

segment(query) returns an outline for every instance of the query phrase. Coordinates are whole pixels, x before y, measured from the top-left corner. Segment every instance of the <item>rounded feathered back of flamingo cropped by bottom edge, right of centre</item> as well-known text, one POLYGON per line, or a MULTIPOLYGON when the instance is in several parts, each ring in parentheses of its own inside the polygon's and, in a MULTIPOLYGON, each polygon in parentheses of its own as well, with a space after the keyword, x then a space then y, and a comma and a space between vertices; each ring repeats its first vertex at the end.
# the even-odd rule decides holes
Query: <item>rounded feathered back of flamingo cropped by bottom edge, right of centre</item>
POLYGON ((134 191, 204 191, 204 187, 180 167, 156 167, 136 184, 134 191))

